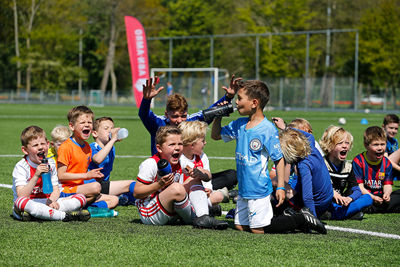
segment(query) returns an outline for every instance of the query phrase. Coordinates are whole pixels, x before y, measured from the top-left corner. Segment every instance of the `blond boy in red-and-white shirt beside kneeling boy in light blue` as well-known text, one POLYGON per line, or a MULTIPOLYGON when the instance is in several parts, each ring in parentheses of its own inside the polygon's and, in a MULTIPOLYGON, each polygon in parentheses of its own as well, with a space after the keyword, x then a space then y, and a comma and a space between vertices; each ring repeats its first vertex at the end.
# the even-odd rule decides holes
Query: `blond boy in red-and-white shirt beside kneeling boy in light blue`
POLYGON ((183 142, 183 153, 179 161, 185 174, 183 181, 179 182, 187 184, 191 179, 201 181, 208 196, 209 208, 216 210, 216 215, 220 215, 218 204, 224 199, 224 195, 220 191, 213 191, 210 163, 203 151, 207 143, 205 138, 208 125, 202 121, 184 121, 178 128, 182 131, 183 142))

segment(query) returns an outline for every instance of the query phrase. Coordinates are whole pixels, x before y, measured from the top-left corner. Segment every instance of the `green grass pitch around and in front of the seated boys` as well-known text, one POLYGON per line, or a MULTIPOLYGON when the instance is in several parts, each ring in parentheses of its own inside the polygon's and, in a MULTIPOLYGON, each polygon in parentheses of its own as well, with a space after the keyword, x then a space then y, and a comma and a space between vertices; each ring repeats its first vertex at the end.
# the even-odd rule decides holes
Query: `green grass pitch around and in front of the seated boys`
MULTIPOLYGON (((58 124, 67 124, 71 106, 0 105, 1 152, 0 184, 11 184, 11 173, 22 155, 19 135, 23 128, 38 125, 50 133, 58 124)), ((134 179, 138 166, 150 154, 150 137, 134 107, 94 107, 96 116, 111 116, 116 126, 130 135, 116 144, 112 179, 134 179), (133 157, 134 156, 134 157, 133 157), (140 157, 142 156, 142 157, 140 157)), ((156 110, 162 114, 162 110, 156 110)), ((272 111, 267 117, 286 121, 304 117, 313 125, 316 139, 339 117, 347 119, 345 128, 354 135, 349 159, 363 151, 362 132, 370 125, 381 125, 383 114, 272 111), (369 125, 361 125, 367 118, 369 125)), ((226 124, 233 115, 223 120, 226 124)), ((207 138, 205 152, 211 157, 213 172, 235 168, 235 144, 207 138)), ((399 188, 398 183, 396 187, 399 188)), ((145 226, 136 207, 118 207, 116 218, 93 218, 87 223, 29 222, 13 220, 12 191, 0 187, 0 265, 86 265, 86 266, 398 266, 400 240, 370 235, 328 231, 327 235, 253 235, 231 228, 227 231, 197 230, 191 226, 145 226)), ((234 204, 223 204, 224 210, 234 204)), ((220 218, 223 219, 223 218, 220 218)), ((400 234, 400 215, 366 215, 363 221, 327 221, 328 225, 387 234, 400 234)))

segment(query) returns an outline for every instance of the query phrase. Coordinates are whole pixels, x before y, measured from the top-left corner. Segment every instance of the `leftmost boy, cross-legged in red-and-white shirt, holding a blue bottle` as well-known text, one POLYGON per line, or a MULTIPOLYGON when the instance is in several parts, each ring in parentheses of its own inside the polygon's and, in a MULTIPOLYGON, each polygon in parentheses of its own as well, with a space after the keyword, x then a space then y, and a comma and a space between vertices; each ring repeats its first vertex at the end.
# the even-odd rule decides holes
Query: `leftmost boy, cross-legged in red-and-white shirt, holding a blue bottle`
POLYGON ((21 133, 22 152, 25 154, 13 171, 13 215, 16 219, 30 221, 32 217, 54 221, 87 221, 90 213, 80 210, 86 205, 82 194, 60 198, 60 184, 54 159, 42 163, 49 149, 44 130, 29 126, 21 133), (43 192, 42 174, 50 172, 53 191, 43 192))

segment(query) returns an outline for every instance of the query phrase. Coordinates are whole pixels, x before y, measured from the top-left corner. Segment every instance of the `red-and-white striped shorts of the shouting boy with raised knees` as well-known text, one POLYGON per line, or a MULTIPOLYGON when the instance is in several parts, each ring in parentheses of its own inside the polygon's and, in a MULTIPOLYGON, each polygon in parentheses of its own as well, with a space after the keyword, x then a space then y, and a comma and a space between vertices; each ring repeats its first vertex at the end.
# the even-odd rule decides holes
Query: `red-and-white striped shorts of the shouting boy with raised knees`
POLYGON ((158 194, 151 199, 138 199, 136 206, 142 223, 148 225, 165 225, 175 219, 173 214, 166 211, 161 205, 158 194))

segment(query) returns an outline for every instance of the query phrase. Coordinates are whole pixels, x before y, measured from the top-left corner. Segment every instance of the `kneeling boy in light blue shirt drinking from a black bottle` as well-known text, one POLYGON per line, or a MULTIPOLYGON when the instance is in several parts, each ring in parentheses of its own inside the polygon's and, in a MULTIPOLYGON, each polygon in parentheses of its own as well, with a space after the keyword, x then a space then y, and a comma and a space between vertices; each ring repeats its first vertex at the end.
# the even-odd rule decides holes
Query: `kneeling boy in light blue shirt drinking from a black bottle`
POLYGON ((285 199, 284 159, 278 131, 268 121, 263 109, 269 100, 269 89, 261 81, 237 81, 236 107, 239 118, 221 128, 221 118, 215 118, 211 137, 225 142, 236 140, 236 168, 239 195, 235 210, 235 227, 252 233, 278 233, 303 227, 326 233, 326 229, 310 213, 295 213, 273 217, 272 183, 268 175, 268 159, 274 161, 277 176, 277 206, 285 199))

